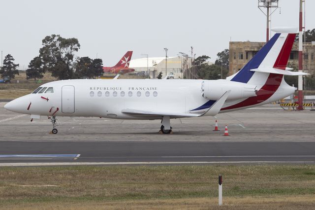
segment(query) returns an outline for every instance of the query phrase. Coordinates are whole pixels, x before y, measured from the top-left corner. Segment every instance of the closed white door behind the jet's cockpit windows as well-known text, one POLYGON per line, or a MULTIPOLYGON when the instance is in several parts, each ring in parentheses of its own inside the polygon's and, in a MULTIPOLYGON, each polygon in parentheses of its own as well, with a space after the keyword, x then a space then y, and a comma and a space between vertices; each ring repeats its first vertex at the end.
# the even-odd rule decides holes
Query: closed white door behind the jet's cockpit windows
POLYGON ((74 113, 74 86, 65 85, 62 87, 61 108, 63 113, 74 113))

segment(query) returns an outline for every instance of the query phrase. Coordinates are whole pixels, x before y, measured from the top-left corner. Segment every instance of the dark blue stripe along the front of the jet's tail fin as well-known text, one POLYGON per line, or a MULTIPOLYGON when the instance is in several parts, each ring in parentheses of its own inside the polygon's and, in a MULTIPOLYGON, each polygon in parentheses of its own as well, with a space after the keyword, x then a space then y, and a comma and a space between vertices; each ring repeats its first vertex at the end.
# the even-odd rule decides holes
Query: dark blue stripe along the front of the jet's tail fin
POLYGON ((256 55, 241 69, 232 79, 234 82, 247 83, 254 74, 252 69, 257 69, 261 62, 265 59, 272 46, 279 38, 280 33, 275 34, 257 53, 256 55))

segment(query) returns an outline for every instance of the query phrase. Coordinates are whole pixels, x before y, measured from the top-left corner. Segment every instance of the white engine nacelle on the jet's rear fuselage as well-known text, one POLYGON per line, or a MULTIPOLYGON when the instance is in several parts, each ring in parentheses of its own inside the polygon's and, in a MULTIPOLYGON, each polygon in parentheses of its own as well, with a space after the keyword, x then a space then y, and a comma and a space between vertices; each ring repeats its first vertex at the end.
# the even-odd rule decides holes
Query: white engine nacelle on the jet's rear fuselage
POLYGON ((202 82, 202 96, 208 100, 218 100, 228 90, 231 90, 226 100, 244 99, 256 96, 255 85, 234 82, 225 79, 204 80, 202 82))

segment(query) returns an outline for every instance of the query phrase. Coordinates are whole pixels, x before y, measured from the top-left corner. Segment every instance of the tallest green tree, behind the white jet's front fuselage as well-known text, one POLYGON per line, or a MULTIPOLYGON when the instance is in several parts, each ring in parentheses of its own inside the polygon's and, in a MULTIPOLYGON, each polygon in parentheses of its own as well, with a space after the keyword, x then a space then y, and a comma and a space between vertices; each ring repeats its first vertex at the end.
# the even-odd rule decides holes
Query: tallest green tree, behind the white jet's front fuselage
POLYGON ((77 38, 63 38, 60 35, 46 36, 42 40, 43 47, 39 56, 43 61, 43 70, 48 70, 52 76, 59 79, 71 79, 74 76, 74 53, 80 49, 77 38))

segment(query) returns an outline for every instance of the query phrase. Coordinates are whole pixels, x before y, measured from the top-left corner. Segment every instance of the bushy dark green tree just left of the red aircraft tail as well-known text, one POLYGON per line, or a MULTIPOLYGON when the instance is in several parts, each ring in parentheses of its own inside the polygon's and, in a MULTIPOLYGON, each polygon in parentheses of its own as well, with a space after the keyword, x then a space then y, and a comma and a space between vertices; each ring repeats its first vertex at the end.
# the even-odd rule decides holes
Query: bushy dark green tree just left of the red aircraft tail
POLYGON ((95 78, 103 73, 102 59, 91 59, 89 57, 77 58, 74 65, 76 78, 95 78))

